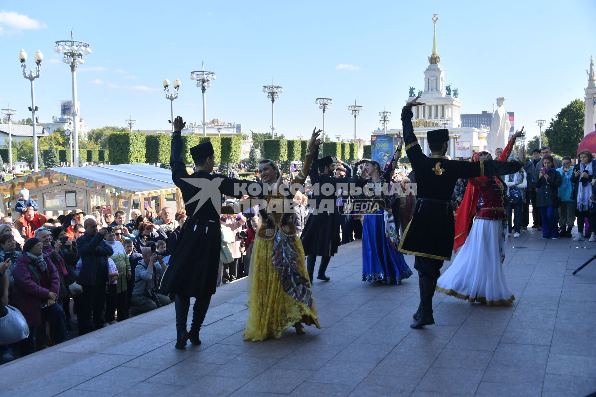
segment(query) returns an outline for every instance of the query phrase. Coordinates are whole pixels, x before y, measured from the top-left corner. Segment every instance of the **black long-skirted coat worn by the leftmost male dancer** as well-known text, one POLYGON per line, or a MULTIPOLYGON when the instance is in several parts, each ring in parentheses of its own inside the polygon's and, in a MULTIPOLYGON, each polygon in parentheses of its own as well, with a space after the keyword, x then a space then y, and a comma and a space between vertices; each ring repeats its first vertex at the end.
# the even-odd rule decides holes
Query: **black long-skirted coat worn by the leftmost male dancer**
POLYGON ((221 207, 222 194, 240 198, 240 190, 235 187, 260 183, 231 179, 207 171, 188 174, 181 155, 182 137, 175 133, 170 157, 172 180, 182 192, 188 218, 163 274, 160 289, 166 293, 200 298, 215 293, 218 280, 221 228, 215 205, 221 207), (205 196, 199 199, 197 195, 200 196, 201 192, 205 196), (210 199, 212 195, 216 202, 210 199))

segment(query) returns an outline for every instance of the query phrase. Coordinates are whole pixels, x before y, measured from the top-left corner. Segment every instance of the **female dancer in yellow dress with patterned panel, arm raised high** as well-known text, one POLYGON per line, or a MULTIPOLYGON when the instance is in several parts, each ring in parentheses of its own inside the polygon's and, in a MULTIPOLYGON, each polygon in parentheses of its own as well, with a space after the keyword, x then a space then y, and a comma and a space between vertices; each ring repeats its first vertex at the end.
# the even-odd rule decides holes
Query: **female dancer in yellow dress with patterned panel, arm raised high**
MULTIPOLYGON (((321 130, 313 130, 302 170, 291 182, 301 186, 311 170, 312 152, 321 130)), ((280 184, 280 170, 271 160, 259 164, 263 189, 280 184)), ((265 194, 266 208, 261 208, 261 226, 254 239, 253 258, 250 264, 252 289, 249 289, 249 317, 246 320, 244 340, 265 340, 281 337, 290 326, 296 333, 305 333, 302 323, 319 326, 316 318, 315 298, 305 265, 302 242, 296 236, 291 221, 293 211, 283 212, 283 201, 291 202, 294 194, 283 189, 265 194)), ((251 282, 251 280, 249 280, 251 282)))

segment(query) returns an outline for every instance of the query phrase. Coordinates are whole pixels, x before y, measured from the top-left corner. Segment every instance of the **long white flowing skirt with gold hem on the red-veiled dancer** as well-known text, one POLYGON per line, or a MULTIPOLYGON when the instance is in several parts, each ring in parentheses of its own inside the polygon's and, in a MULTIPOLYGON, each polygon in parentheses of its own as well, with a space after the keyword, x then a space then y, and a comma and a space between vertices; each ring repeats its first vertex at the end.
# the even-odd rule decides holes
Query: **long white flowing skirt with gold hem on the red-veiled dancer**
POLYGON ((451 267, 437 280, 436 290, 468 302, 511 304, 516 298, 502 268, 506 232, 507 221, 477 219, 451 267))

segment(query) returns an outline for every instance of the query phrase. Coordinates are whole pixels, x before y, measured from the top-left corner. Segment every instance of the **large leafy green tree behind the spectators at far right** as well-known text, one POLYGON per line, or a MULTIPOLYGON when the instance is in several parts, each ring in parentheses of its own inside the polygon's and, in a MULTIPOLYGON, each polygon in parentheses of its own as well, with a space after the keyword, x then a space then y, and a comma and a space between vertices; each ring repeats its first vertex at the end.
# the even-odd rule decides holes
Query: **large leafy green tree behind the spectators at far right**
POLYGON ((548 137, 549 146, 553 152, 562 156, 575 157, 579 143, 583 139, 584 106, 581 99, 575 99, 551 119, 551 124, 544 130, 544 135, 548 137))

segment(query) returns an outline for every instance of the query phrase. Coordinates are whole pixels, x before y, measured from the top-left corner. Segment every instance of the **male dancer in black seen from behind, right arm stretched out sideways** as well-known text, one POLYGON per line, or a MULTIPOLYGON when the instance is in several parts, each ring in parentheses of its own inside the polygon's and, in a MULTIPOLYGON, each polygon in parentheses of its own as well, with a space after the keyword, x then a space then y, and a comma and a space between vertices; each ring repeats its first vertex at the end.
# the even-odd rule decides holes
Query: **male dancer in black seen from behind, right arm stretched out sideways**
MULTIPOLYGON (((402 110, 403 138, 406 154, 416 173, 418 201, 414 217, 403 232, 399 251, 415 255, 414 268, 418 270, 420 285, 420 305, 414 314, 412 328, 421 328, 434 324, 433 295, 440 276, 443 261, 451 260, 455 238, 455 222, 451 208, 451 196, 455 182, 460 178, 513 174, 522 168, 519 160, 502 162, 456 161, 444 158, 449 140, 448 130, 427 132, 431 151, 425 155, 418 145, 412 126, 412 107, 424 105, 417 96, 406 103, 402 110), (429 244, 429 235, 433 239, 429 244)), ((525 162, 526 159, 523 159, 525 162)))

